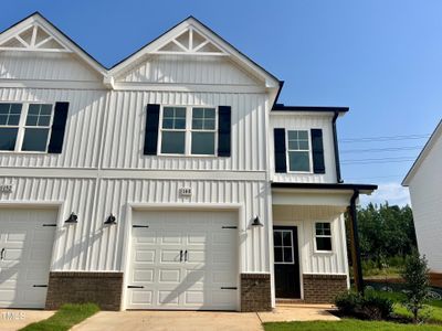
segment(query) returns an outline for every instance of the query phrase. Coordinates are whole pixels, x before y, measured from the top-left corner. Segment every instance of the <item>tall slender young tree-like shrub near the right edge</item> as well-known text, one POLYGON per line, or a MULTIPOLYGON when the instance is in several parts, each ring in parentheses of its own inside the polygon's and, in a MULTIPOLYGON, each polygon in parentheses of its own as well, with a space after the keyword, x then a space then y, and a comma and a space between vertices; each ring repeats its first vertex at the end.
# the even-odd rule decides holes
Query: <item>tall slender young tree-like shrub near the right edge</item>
POLYGON ((419 311, 429 299, 430 279, 425 256, 420 257, 418 253, 407 257, 401 273, 406 281, 406 299, 403 306, 412 313, 414 323, 419 322, 419 311))

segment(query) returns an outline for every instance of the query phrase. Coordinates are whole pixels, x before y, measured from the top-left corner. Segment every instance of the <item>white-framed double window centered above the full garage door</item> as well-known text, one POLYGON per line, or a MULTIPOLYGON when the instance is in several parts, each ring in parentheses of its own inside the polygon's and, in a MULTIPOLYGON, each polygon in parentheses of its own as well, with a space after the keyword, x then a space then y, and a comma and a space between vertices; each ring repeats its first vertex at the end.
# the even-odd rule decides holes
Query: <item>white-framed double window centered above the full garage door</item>
POLYGON ((160 117, 160 154, 214 156, 214 107, 164 106, 160 117))

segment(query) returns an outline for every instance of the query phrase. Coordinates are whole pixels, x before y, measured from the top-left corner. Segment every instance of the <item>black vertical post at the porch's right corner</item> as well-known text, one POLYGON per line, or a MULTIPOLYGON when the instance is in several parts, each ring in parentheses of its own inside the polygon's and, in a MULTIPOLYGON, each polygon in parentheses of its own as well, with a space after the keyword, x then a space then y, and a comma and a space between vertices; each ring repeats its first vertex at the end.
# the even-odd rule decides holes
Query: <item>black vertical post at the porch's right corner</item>
POLYGON ((359 248, 359 234, 358 234, 358 214, 356 211, 356 201, 359 197, 359 191, 354 190, 350 199, 349 215, 351 221, 350 236, 351 236, 351 261, 352 261, 352 274, 355 278, 356 290, 364 295, 364 278, 362 278, 362 265, 360 261, 360 248, 359 248))

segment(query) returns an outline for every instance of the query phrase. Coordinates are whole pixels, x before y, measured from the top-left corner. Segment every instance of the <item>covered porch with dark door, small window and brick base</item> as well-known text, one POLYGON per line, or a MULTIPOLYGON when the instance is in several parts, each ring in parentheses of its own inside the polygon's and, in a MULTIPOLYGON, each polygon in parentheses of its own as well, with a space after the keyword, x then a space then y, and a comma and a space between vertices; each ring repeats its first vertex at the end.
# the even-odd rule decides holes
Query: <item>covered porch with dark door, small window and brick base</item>
POLYGON ((360 193, 373 190, 376 185, 272 184, 276 302, 326 303, 349 288, 345 212, 358 269, 356 204, 360 193))

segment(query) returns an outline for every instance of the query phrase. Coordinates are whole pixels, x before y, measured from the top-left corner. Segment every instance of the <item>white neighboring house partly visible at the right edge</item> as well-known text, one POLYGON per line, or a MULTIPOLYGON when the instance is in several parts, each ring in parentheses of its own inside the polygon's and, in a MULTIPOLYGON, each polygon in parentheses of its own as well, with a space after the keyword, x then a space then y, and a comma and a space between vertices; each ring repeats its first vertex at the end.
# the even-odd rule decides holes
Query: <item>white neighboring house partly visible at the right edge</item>
POLYGON ((411 167, 402 185, 410 190, 419 253, 431 280, 442 287, 442 120, 411 167))

